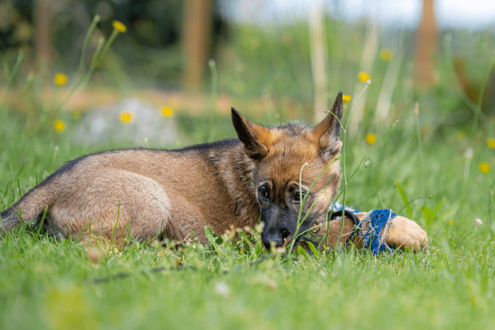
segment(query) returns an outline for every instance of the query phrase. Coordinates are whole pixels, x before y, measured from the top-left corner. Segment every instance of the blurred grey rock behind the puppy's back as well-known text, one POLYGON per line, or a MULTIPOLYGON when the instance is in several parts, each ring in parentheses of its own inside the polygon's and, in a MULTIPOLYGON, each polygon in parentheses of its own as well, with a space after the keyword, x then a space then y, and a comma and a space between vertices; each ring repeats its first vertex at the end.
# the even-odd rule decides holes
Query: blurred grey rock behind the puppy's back
POLYGON ((160 109, 137 98, 90 109, 75 130, 77 143, 104 146, 130 143, 165 147, 175 144, 176 138, 174 119, 163 116, 160 109), (131 122, 121 120, 126 112, 131 115, 131 122))

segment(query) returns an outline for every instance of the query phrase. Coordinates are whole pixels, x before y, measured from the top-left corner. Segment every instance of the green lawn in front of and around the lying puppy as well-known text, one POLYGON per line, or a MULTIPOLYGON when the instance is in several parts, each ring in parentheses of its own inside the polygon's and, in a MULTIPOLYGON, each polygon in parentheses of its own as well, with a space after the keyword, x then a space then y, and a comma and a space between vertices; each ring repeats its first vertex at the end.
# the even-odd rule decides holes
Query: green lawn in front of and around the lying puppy
MULTIPOLYGON (((223 126, 227 119, 218 121, 223 126)), ((432 196, 410 205, 412 218, 424 226, 419 207, 434 209, 444 199, 428 227, 430 238, 435 237, 430 253, 375 258, 343 251, 297 261, 268 258, 249 266, 263 255, 259 241, 249 251, 247 244, 225 240, 215 251, 135 243, 103 254, 95 263, 77 243, 21 230, 0 241, 0 329, 487 329, 495 323, 494 242, 488 221, 493 174, 478 177, 477 164, 493 150, 478 139, 462 217, 457 213, 462 142, 448 145, 439 136, 436 143, 423 141, 420 163, 416 132, 408 122, 414 123, 404 118, 371 152, 371 164, 349 186, 347 204, 368 210, 383 202, 399 210, 404 204, 394 186, 398 181, 409 199, 432 196), (484 224, 475 232, 476 217, 484 224), (150 272, 177 264, 195 268, 150 272), (111 278, 121 272, 129 276, 111 278), (95 283, 102 277, 110 278, 95 283)), ((207 121, 196 124, 197 131, 209 127, 207 121)), ((19 116, 7 114, 1 127, 1 209, 19 197, 17 178, 24 193, 35 185, 36 173, 41 181, 64 161, 96 151, 69 142, 69 131, 25 137, 19 116)), ((197 141, 187 142, 204 136, 198 133, 197 141)), ((350 170, 369 145, 362 139, 348 143, 350 170)), ((405 210, 401 214, 407 215, 405 210)))

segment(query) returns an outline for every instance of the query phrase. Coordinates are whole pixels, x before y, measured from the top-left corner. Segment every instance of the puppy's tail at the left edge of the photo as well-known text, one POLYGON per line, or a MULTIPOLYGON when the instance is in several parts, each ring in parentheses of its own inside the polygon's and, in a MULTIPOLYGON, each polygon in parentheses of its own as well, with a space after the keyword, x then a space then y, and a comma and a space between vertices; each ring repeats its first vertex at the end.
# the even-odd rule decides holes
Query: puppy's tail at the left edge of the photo
POLYGON ((31 223, 38 218, 49 207, 51 200, 52 193, 44 182, 28 191, 12 206, 0 212, 0 237, 22 221, 31 223))

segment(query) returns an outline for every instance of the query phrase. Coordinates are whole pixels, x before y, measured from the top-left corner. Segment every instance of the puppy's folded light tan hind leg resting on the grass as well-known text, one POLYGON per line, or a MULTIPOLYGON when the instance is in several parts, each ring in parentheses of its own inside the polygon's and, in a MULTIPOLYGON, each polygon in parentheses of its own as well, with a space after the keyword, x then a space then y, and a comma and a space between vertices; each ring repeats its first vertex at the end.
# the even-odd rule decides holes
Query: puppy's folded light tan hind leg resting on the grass
POLYGON ((125 170, 112 170, 84 184, 88 188, 83 196, 68 191, 53 204, 49 231, 59 231, 64 238, 82 231, 84 240, 112 243, 121 243, 129 235, 147 242, 157 234, 174 233, 170 200, 156 181, 125 170))

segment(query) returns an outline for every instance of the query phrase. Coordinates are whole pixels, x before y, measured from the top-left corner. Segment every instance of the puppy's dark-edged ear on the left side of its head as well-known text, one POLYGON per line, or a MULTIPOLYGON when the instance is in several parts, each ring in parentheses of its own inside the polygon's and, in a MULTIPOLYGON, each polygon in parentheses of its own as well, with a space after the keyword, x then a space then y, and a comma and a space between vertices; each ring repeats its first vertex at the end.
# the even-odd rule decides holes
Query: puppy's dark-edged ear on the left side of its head
POLYGON ((268 154, 270 129, 248 121, 234 108, 232 108, 232 124, 239 140, 244 143, 249 158, 259 161, 268 154))

